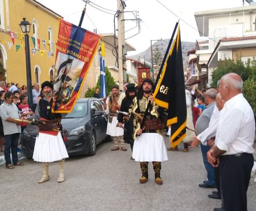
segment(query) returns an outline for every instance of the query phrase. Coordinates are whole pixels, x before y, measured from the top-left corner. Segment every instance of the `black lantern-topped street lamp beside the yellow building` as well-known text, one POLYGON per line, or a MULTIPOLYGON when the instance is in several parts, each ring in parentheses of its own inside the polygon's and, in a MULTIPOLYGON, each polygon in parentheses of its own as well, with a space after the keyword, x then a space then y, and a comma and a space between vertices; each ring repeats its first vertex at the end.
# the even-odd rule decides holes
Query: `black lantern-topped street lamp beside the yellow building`
POLYGON ((19 24, 22 32, 25 34, 25 49, 26 49, 26 69, 27 69, 27 102, 31 107, 32 101, 32 83, 31 83, 31 64, 30 64, 30 52, 29 52, 29 36, 31 24, 23 18, 23 21, 19 24))

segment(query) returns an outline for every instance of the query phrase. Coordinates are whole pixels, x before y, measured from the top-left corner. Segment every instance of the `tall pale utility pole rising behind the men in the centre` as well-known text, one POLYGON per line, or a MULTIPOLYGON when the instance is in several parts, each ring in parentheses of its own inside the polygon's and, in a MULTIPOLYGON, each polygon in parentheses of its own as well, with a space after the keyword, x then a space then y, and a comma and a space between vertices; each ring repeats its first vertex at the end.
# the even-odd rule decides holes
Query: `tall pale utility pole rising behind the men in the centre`
MULTIPOLYGON (((123 90, 123 53, 122 48, 125 42, 124 39, 124 13, 123 13, 123 2, 117 0, 117 11, 118 13, 118 68, 119 68, 119 89, 123 90)), ((116 39, 116 38, 115 38, 116 39)))

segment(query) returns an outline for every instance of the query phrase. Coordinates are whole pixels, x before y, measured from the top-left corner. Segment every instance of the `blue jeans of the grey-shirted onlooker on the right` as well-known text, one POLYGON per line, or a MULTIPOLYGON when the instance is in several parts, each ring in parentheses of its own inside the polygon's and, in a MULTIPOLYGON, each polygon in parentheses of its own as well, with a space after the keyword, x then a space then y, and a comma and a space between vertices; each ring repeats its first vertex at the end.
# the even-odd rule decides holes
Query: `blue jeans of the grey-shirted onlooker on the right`
POLYGON ((202 160, 203 160, 204 167, 207 171, 208 181, 206 182, 206 184, 215 186, 216 185, 215 168, 208 162, 208 159, 207 159, 207 152, 209 151, 210 148, 211 147, 208 145, 206 145, 206 146, 201 145, 202 160))

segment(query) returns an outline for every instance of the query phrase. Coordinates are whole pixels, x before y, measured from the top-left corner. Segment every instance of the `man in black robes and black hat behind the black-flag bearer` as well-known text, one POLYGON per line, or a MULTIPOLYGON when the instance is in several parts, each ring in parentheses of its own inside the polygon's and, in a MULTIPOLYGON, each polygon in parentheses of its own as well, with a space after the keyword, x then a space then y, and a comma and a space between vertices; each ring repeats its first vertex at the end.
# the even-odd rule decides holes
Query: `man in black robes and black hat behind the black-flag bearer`
MULTIPOLYGON (((135 84, 129 83, 126 85, 126 88, 127 88, 127 91, 125 92, 126 96, 121 101, 120 111, 128 113, 129 109, 131 108, 131 105, 133 104, 133 99, 135 98, 135 95, 136 95, 135 84)), ((124 129, 125 129, 124 134, 123 134, 123 139, 124 139, 125 143, 128 143, 131 145, 131 149, 133 151, 133 146, 134 146, 133 119, 123 115, 122 113, 118 114, 117 119, 118 119, 118 126, 124 127, 124 129), (124 126, 123 126, 123 124, 124 124, 124 126)), ((131 157, 131 159, 133 159, 133 157, 131 157)))

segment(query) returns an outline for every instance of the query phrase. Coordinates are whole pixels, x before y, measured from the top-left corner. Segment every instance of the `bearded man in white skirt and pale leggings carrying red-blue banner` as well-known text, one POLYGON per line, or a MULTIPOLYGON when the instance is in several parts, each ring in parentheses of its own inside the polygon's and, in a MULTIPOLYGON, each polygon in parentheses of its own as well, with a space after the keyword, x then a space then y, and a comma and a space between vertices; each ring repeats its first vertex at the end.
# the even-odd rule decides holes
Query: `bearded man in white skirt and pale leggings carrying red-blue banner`
POLYGON ((67 149, 63 142, 61 132, 61 115, 52 113, 53 104, 53 84, 44 81, 41 85, 44 94, 37 105, 35 117, 45 122, 39 126, 39 133, 36 138, 33 159, 42 162, 43 176, 38 183, 44 183, 50 180, 49 163, 59 161, 58 183, 64 182, 64 159, 68 158, 67 149))

